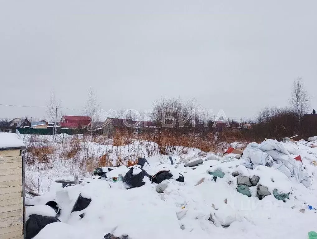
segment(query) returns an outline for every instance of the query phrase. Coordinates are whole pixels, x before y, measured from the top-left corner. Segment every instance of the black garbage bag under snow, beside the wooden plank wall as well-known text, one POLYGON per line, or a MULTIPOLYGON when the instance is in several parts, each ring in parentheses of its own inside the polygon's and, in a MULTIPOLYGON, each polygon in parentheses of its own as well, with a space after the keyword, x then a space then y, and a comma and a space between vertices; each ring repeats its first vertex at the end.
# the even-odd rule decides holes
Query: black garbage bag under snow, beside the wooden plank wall
POLYGON ((41 216, 32 214, 25 222, 25 238, 31 239, 36 236, 46 225, 60 222, 55 216, 41 216))

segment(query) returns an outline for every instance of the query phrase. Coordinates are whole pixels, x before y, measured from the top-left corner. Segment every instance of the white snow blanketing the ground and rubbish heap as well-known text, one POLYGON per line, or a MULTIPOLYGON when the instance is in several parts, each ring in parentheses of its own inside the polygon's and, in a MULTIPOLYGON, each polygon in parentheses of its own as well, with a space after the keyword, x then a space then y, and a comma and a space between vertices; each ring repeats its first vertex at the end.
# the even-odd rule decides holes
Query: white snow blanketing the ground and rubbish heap
MULTIPOLYGON (((101 239, 108 233, 119 237, 128 235, 131 239, 306 239, 309 231, 317 230, 316 210, 308 209, 308 205, 317 208, 317 167, 314 166, 317 148, 302 143, 317 145, 317 141, 286 142, 281 143, 281 149, 262 150, 262 153, 257 151, 256 157, 247 155, 246 151, 241 159, 236 159, 236 155, 219 157, 199 149, 181 147, 171 155, 172 165, 168 156, 155 152, 149 155, 149 146, 143 142, 117 148, 110 144, 83 142, 86 152, 94 150, 98 156, 108 152, 113 162, 117 160, 118 152, 122 158, 143 156, 150 164, 144 167, 149 175, 164 169, 169 170, 175 178, 170 179, 163 193, 158 193, 157 184, 151 183, 146 177, 143 179, 145 185, 132 189, 127 189, 128 185, 122 181, 113 182, 109 178, 92 179, 90 183, 62 188, 60 183, 54 181, 61 177, 72 179, 74 165, 78 166, 76 160, 62 162, 55 159, 52 164, 46 163, 50 169, 45 169, 45 163, 28 166, 28 175, 34 179, 34 183, 42 181, 39 187, 46 193, 27 199, 27 204, 38 205, 55 200, 61 207, 61 222, 47 225, 34 239, 101 239), (297 155, 301 155, 302 163, 293 161, 293 156, 297 155), (269 156, 273 158, 272 162, 269 156), (292 176, 274 167, 274 163, 279 163, 276 159, 280 156, 282 160, 287 156, 283 163, 286 163, 292 176), (266 157, 264 165, 258 160, 262 157, 266 157), (204 162, 196 167, 185 167, 182 161, 186 161, 186 158, 201 158, 204 162), (254 167, 245 167, 248 160, 254 167), (307 173, 309 185, 305 185, 306 181, 302 180, 304 177, 294 176, 294 169, 297 168, 307 173), (217 177, 215 181, 210 172, 216 170, 221 170, 224 176, 217 177), (184 176, 184 182, 174 180, 178 173, 184 176), (251 178, 254 175, 260 179, 256 186, 249 187, 251 196, 237 192, 237 178, 251 178), (260 200, 257 196, 259 185, 267 187, 271 195, 260 200), (273 195, 275 189, 278 193, 289 194, 288 199, 285 202, 277 200, 273 195), (80 193, 90 198, 91 203, 82 211, 71 212, 80 193), (79 215, 83 213, 81 218, 79 215)), ((155 145, 152 147, 155 148, 155 145)), ((84 150, 78 155, 84 154, 84 150)), ((91 176, 91 173, 86 172, 83 176, 91 176)))

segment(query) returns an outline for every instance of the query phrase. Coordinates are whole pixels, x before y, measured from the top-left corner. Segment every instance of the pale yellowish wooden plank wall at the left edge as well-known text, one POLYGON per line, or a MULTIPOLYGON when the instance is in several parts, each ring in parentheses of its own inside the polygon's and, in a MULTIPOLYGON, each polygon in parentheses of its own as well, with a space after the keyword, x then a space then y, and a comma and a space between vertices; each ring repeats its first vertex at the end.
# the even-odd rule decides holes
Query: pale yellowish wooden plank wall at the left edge
POLYGON ((0 238, 23 239, 21 150, 0 150, 0 238))

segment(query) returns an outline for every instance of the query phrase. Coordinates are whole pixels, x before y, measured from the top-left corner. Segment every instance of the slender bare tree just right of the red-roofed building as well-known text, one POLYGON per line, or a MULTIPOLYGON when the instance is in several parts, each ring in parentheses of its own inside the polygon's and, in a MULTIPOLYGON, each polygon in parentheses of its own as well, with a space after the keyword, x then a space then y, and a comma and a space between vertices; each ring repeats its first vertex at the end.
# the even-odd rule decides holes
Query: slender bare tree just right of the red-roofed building
POLYGON ((100 119, 98 118, 97 112, 100 110, 100 101, 98 100, 97 94, 93 88, 89 88, 88 99, 85 103, 85 112, 87 116, 90 116, 90 131, 91 131, 91 142, 93 141, 93 128, 95 123, 99 123, 100 119))

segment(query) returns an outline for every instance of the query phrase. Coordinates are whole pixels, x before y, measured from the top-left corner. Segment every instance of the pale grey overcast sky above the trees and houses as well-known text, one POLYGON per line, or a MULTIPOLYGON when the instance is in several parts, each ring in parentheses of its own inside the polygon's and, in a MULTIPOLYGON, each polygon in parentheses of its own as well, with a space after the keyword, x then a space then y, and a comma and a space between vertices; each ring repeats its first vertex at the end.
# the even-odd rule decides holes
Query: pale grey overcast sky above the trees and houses
MULTIPOLYGON (((287 106, 301 76, 317 108, 317 1, 0 0, 0 104, 108 109, 195 98, 227 116, 287 106)), ((62 110, 62 114, 82 111, 62 110)), ((44 108, 0 105, 0 118, 44 108)))

